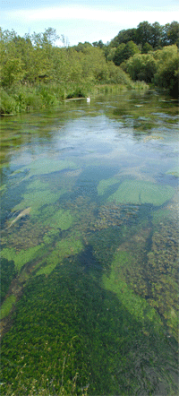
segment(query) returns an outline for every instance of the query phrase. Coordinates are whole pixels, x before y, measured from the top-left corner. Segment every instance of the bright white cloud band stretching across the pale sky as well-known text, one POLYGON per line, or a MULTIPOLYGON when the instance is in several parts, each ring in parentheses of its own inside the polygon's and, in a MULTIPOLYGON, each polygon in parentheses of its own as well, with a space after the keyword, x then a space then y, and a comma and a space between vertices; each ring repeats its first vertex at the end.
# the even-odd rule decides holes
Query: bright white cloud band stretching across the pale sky
POLYGON ((100 10, 90 7, 47 7, 33 10, 16 10, 6 12, 7 19, 13 19, 19 22, 47 22, 47 21, 93 21, 93 22, 111 22, 123 23, 127 26, 137 26, 138 23, 148 21, 150 23, 176 21, 177 13, 173 11, 116 11, 100 10))

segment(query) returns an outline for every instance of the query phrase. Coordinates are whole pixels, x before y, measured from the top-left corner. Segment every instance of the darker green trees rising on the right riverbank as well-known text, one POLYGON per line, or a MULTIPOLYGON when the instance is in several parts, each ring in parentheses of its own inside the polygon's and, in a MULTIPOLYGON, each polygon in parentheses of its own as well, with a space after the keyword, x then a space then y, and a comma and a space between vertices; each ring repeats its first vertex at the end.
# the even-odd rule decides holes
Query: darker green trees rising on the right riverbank
POLYGON ((120 30, 117 36, 103 44, 107 61, 113 61, 128 73, 132 80, 153 83, 178 95, 179 23, 161 26, 158 22, 141 22, 136 29, 120 30))

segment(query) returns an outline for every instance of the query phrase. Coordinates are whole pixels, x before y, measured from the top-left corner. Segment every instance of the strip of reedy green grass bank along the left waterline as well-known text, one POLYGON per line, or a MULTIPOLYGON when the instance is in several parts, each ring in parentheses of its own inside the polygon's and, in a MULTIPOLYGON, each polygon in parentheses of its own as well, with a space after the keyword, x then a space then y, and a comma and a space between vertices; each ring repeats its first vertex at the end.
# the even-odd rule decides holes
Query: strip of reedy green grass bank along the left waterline
POLYGON ((0 90, 0 115, 14 116, 41 108, 56 108, 65 99, 87 98, 98 93, 117 93, 123 90, 149 90, 145 82, 125 82, 124 84, 46 84, 17 85, 9 90, 0 90))

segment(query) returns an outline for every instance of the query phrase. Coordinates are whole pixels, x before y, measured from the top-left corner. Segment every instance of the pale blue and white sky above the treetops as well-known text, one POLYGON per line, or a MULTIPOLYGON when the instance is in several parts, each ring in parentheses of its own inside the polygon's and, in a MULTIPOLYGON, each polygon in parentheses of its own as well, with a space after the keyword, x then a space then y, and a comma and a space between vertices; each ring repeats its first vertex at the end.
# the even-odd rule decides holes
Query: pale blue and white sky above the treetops
MULTIPOLYGON (((178 0, 0 0, 0 9, 3 30, 23 37, 50 27, 70 46, 98 40, 106 44, 120 30, 143 21, 179 22, 178 0)), ((63 46, 60 40, 56 44, 63 46)))

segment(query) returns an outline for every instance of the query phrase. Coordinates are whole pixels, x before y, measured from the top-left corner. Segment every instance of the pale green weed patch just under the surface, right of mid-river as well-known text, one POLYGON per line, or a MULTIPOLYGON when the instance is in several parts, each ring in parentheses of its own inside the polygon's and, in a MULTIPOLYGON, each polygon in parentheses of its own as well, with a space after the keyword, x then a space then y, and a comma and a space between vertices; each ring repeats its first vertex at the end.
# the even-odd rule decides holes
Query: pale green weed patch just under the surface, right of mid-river
POLYGON ((155 185, 139 180, 125 180, 118 190, 109 196, 107 201, 120 203, 152 203, 160 206, 175 194, 175 189, 169 185, 155 185))

